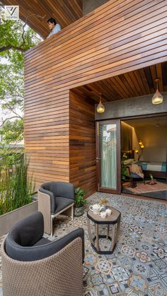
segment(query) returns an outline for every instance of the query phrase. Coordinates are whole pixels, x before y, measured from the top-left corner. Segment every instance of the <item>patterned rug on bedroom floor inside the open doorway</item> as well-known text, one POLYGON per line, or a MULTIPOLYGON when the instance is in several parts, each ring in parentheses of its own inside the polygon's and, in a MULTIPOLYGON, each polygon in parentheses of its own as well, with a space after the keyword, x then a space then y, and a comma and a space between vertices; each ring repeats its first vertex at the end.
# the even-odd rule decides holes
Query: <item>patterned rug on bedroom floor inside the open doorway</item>
POLYGON ((157 181, 156 181, 156 184, 154 184, 154 185, 150 185, 150 184, 148 184, 148 182, 146 182, 146 184, 144 184, 143 181, 139 181, 139 182, 137 182, 137 187, 134 187, 134 188, 131 188, 130 183, 126 182, 125 184, 123 184, 123 187, 125 187, 125 189, 128 189, 129 191, 134 192, 134 194, 142 194, 142 193, 146 193, 146 192, 167 190, 166 183, 157 182, 157 181))

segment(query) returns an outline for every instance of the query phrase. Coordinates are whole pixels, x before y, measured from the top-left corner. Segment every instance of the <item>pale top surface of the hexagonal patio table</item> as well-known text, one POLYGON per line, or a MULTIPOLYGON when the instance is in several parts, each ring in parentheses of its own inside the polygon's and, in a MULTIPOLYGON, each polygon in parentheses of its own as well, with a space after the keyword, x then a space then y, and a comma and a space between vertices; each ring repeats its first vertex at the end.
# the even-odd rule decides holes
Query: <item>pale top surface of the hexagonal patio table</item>
POLYGON ((113 206, 108 206, 111 209, 111 215, 107 215, 106 218, 101 218, 98 214, 94 214, 93 211, 87 212, 87 217, 96 224, 115 224, 120 219, 120 211, 117 211, 113 206))

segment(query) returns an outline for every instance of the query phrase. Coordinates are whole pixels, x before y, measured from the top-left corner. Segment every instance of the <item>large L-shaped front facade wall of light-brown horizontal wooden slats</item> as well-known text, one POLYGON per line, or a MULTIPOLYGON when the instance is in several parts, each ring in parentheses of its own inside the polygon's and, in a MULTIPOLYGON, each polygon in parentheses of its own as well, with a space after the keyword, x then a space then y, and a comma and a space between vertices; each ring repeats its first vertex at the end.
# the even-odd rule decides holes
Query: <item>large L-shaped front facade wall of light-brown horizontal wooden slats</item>
POLYGON ((37 184, 69 181, 69 90, 166 61, 167 0, 110 0, 25 53, 25 148, 37 184))

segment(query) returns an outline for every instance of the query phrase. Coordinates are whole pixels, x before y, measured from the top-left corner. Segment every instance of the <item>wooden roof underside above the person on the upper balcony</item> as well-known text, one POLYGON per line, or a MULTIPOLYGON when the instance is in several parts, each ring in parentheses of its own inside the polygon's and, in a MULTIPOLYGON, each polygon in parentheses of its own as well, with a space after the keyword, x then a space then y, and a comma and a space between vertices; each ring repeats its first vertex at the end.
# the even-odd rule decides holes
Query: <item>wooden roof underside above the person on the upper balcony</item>
POLYGON ((62 28, 83 16, 82 0, 1 0, 4 5, 18 5, 19 15, 42 38, 49 34, 47 19, 55 18, 62 28))

